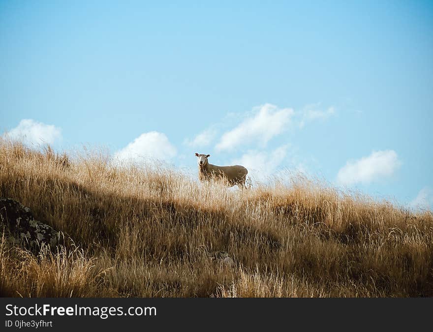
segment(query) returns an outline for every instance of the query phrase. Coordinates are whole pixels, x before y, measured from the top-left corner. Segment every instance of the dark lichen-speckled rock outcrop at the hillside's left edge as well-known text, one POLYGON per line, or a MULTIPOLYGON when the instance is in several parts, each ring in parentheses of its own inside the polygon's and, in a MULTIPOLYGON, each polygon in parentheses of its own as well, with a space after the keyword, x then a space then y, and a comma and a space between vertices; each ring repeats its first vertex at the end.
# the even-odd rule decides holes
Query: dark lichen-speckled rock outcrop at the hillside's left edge
POLYGON ((35 220, 31 210, 21 203, 0 197, 0 237, 4 232, 7 243, 23 245, 37 252, 41 243, 56 247, 59 232, 50 225, 35 220))

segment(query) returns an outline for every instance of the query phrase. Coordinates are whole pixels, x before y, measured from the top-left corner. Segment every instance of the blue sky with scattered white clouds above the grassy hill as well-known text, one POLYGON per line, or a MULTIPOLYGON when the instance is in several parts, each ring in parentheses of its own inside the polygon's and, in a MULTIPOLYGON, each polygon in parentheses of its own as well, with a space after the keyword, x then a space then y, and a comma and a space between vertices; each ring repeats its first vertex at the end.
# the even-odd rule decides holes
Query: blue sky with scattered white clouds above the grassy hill
POLYGON ((433 204, 429 1, 1 1, 0 129, 433 204))

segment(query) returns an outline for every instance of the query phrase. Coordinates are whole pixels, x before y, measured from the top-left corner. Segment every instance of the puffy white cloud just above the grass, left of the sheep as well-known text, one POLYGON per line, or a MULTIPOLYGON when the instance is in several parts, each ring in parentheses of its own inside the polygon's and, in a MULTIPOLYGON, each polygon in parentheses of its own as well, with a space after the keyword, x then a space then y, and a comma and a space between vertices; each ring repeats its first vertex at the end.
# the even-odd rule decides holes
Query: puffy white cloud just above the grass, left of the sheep
POLYGON ((117 151, 114 159, 117 161, 149 161, 170 160, 177 154, 176 148, 167 136, 157 131, 143 133, 124 149, 117 151))

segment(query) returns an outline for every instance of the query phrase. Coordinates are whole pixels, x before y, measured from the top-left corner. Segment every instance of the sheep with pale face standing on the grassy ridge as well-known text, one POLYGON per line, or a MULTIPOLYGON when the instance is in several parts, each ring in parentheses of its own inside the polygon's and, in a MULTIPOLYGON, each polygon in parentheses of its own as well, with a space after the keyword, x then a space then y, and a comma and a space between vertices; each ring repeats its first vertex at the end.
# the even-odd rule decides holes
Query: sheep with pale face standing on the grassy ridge
POLYGON ((234 185, 238 185, 240 188, 245 187, 248 170, 244 166, 216 166, 208 162, 210 154, 195 153, 195 155, 197 157, 198 178, 200 181, 225 179, 230 187, 234 185))

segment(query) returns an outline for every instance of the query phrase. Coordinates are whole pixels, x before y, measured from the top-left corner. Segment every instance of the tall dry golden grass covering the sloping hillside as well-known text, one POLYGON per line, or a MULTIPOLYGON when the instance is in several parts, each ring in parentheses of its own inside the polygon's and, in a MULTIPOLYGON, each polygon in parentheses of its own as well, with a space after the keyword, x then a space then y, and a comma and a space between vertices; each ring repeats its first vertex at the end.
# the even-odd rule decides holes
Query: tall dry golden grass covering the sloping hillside
POLYGON ((301 177, 231 191, 1 141, 0 196, 76 245, 35 257, 2 241, 0 296, 433 296, 431 211, 301 177))

